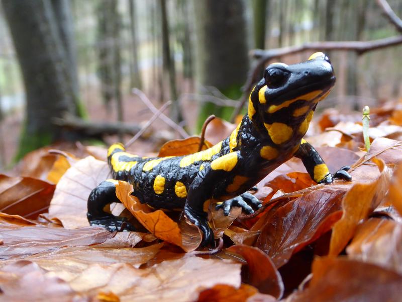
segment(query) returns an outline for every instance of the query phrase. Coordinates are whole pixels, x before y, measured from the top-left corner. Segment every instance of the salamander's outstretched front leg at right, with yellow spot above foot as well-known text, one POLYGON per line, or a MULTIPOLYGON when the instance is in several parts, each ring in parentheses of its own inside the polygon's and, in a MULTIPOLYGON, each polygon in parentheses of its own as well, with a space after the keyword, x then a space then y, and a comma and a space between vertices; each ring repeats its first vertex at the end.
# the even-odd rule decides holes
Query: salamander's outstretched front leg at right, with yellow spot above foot
POLYGON ((346 181, 352 180, 352 177, 347 172, 350 169, 349 166, 342 167, 332 175, 317 150, 304 139, 302 139, 302 144, 300 144, 295 157, 302 160, 307 172, 317 183, 332 184, 334 178, 346 181))

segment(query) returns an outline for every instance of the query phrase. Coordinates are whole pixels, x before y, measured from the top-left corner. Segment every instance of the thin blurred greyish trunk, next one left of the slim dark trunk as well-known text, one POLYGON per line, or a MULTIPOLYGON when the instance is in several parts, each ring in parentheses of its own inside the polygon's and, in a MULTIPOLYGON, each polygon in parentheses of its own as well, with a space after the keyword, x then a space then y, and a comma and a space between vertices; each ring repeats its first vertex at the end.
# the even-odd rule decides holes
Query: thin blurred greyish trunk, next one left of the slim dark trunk
POLYGON ((128 0, 130 8, 130 33, 131 33, 131 64, 130 64, 130 83, 131 88, 142 89, 141 73, 138 61, 138 37, 137 37, 137 16, 135 0, 128 0))

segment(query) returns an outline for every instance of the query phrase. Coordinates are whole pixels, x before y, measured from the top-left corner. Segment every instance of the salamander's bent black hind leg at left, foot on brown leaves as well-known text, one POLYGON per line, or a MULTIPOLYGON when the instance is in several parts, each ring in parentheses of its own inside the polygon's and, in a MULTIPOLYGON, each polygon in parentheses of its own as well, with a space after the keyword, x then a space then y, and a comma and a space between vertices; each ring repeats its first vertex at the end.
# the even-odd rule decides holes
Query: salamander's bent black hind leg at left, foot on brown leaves
POLYGON ((110 232, 135 231, 134 226, 126 222, 126 218, 105 212, 105 206, 113 202, 120 202, 116 196, 116 181, 105 180, 89 194, 86 213, 89 224, 103 226, 110 232))

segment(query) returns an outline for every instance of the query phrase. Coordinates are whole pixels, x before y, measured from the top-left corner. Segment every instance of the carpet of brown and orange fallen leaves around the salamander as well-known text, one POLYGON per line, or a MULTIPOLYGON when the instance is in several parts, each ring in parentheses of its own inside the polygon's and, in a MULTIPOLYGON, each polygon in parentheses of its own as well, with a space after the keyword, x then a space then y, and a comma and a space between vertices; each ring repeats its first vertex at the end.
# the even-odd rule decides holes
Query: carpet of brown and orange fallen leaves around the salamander
MULTIPOLYGON (((64 153, 72 160, 37 150, 19 175, 0 176, 0 299, 397 300, 402 143, 394 138, 402 122, 396 109, 378 110, 372 122, 367 154, 357 119, 334 111, 319 121, 323 132, 307 138, 331 172, 351 165, 352 182, 317 185, 291 159, 257 185, 263 207, 255 214, 234 208, 225 216, 211 206, 223 240, 217 254, 199 246, 199 230, 183 215, 141 204, 125 182, 116 189, 125 207, 111 211, 130 217, 138 232, 88 226, 87 197, 110 177, 105 149, 64 153)), ((234 127, 215 119, 206 138, 215 143, 234 127)), ((160 153, 185 155, 199 145, 198 137, 174 140, 160 153)))

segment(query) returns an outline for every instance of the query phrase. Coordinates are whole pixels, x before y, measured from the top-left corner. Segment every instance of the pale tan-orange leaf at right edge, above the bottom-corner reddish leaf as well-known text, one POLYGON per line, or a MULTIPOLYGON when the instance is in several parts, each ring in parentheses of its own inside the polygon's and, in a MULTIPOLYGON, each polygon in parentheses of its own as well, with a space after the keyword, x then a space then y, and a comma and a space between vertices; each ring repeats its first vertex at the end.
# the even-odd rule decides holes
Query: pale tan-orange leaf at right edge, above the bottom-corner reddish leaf
POLYGON ((370 218, 360 224, 346 248, 350 258, 402 273, 402 224, 370 218))

